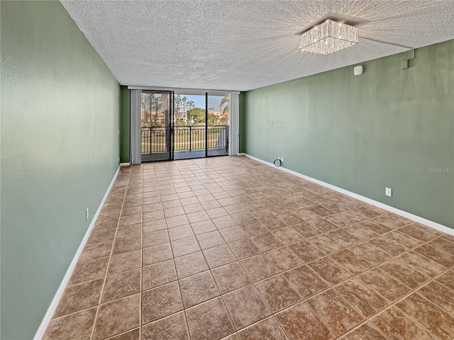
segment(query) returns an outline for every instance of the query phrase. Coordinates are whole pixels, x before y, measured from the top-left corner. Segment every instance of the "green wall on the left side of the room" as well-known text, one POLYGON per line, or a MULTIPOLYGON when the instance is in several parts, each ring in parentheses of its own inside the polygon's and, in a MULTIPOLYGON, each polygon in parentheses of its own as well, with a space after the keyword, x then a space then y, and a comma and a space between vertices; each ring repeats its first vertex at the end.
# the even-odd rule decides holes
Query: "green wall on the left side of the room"
POLYGON ((59 1, 1 1, 1 339, 32 339, 48 310, 118 168, 119 112, 59 1))

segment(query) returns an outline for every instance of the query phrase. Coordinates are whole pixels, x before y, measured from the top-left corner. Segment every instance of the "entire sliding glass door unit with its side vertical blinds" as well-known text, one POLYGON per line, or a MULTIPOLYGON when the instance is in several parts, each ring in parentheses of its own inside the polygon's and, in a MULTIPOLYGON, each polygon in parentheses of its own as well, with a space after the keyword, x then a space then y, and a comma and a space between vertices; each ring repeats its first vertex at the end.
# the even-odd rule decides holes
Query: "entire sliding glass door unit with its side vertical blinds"
POLYGON ((131 164, 238 153, 238 94, 133 88, 130 98, 131 164))

